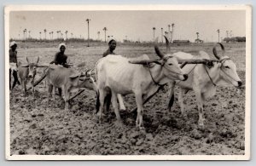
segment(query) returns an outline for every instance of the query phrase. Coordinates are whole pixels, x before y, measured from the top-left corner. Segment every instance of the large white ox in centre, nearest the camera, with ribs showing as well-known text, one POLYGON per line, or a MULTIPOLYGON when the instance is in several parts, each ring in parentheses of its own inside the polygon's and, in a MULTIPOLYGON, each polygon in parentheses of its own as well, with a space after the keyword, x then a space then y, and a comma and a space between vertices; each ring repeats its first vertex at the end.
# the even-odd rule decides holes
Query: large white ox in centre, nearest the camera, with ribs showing
POLYGON ((154 49, 160 57, 159 60, 129 60, 121 55, 108 55, 97 63, 96 80, 99 92, 97 103, 100 104, 98 112, 100 120, 102 120, 104 100, 109 89, 118 123, 121 123, 121 118, 117 94, 135 94, 137 102, 136 126, 142 129, 143 100, 154 94, 160 84, 188 78, 187 74, 183 74, 177 59, 172 54, 162 54, 156 45, 154 49))

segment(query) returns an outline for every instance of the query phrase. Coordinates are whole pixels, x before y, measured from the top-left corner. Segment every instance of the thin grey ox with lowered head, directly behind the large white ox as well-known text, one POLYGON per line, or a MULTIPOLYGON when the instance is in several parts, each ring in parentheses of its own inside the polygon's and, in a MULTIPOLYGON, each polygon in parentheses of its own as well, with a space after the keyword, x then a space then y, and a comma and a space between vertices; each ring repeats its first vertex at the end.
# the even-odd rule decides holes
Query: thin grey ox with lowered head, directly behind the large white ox
POLYGON ((68 101, 73 91, 77 89, 91 89, 96 91, 96 83, 90 77, 90 72, 78 72, 74 68, 50 65, 46 72, 48 80, 48 102, 52 90, 54 89, 53 97, 55 100, 55 88, 59 88, 62 91, 62 97, 65 101, 65 110, 68 110, 68 101))

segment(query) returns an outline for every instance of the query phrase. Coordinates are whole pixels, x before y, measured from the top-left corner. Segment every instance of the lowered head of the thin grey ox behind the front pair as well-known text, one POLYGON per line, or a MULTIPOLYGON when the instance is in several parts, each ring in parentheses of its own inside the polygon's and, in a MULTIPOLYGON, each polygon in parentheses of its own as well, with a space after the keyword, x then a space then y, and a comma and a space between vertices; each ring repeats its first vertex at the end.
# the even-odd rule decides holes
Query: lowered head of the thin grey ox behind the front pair
POLYGON ((96 91, 96 83, 91 77, 92 70, 75 73, 69 76, 70 81, 73 83, 74 86, 78 87, 79 89, 90 89, 96 91))

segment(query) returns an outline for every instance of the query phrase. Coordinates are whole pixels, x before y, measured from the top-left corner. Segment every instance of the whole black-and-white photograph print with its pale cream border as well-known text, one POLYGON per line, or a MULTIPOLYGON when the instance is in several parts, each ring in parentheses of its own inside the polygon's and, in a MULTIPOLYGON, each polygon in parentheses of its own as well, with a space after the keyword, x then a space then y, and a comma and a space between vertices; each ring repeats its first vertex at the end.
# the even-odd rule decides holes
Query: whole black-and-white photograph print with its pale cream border
POLYGON ((6 158, 248 160, 251 13, 6 6, 6 158))

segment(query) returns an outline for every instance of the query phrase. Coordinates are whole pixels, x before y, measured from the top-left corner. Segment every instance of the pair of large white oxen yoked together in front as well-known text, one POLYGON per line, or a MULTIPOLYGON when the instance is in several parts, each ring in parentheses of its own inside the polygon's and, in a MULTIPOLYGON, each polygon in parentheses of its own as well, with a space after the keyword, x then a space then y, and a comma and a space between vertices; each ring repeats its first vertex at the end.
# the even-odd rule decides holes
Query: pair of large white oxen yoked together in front
MULTIPOLYGON (((166 44, 167 51, 170 51, 167 40, 166 44)), ((149 59, 146 54, 137 60, 111 54, 102 58, 96 64, 97 104, 99 104, 97 114, 99 119, 102 120, 104 105, 106 105, 104 101, 106 101, 105 98, 109 91, 112 94, 111 102, 118 123, 121 123, 119 108, 125 109, 121 95, 135 94, 137 102, 136 126, 143 129, 143 102, 154 94, 161 85, 168 83, 170 96, 172 96, 171 102, 173 102, 175 84, 180 87, 178 100, 182 113, 184 113, 182 97, 184 91, 195 91, 199 110, 198 123, 203 126, 203 103, 206 98, 216 93, 216 86, 227 84, 236 87, 241 86, 241 79, 236 73, 235 63, 224 55, 224 46, 221 43, 219 45, 222 49, 222 56, 217 54, 216 46, 212 49, 214 56, 218 59, 215 62, 211 62, 209 55, 204 51, 200 51, 196 56, 184 52, 163 54, 156 44, 154 49, 158 58, 154 60, 149 59), (211 63, 208 65, 188 64, 183 68, 178 65, 178 60, 204 59, 211 63)))

